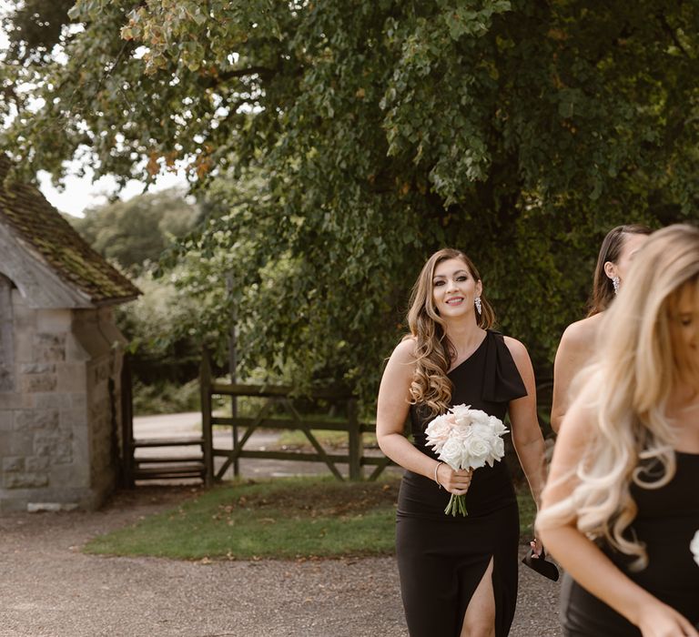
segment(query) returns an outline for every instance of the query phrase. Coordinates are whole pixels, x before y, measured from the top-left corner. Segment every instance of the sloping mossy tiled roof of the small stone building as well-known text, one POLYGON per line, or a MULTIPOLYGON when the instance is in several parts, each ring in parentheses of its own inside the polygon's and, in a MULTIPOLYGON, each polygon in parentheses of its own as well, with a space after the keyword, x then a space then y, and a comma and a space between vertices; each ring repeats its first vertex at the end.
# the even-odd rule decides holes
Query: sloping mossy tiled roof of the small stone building
POLYGON ((140 290, 64 219, 36 187, 8 178, 12 164, 0 153, 0 223, 68 285, 96 305, 136 298, 140 290))

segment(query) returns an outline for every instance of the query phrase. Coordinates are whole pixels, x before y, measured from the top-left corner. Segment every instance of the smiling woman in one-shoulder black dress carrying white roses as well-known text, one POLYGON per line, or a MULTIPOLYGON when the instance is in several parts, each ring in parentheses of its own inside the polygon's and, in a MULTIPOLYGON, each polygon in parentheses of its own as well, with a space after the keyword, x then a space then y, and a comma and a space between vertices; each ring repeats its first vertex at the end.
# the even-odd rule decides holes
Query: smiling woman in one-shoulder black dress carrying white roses
MULTIPOLYGON (((452 405, 503 419, 538 501, 543 440, 532 363, 522 343, 491 331, 481 277, 458 250, 432 255, 413 288, 410 335, 381 380, 380 448, 406 469, 396 549, 411 637, 504 637, 517 599, 519 516, 506 464, 451 470, 426 447, 425 426, 452 405), (413 442, 403 435, 410 414, 413 442), (468 516, 447 516, 465 494, 468 516)), ((534 551, 541 546, 534 543, 534 551)))

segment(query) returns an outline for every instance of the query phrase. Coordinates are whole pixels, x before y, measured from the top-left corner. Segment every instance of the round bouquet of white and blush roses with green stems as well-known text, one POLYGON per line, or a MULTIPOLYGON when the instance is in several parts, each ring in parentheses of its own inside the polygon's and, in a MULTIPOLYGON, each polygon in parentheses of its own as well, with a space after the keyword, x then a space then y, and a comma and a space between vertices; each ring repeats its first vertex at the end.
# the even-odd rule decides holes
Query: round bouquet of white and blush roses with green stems
MULTIPOLYGON (((451 469, 478 469, 505 455, 502 421, 485 411, 471 410, 471 405, 455 405, 447 413, 430 421, 425 430, 427 446, 451 469)), ((468 515, 462 495, 451 494, 445 513, 468 515)))

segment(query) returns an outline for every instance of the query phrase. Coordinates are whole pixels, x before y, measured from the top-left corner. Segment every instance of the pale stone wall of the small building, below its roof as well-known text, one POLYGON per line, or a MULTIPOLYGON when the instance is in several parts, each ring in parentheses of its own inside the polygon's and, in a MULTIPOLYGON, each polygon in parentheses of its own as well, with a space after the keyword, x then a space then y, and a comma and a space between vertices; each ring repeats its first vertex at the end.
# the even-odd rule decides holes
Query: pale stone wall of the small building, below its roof
POLYGON ((0 282, 0 353, 14 352, 0 368, 10 369, 0 377, 0 511, 94 508, 117 480, 123 339, 106 308, 35 309, 16 289, 4 294, 0 282), (10 377, 14 389, 2 384, 10 377))

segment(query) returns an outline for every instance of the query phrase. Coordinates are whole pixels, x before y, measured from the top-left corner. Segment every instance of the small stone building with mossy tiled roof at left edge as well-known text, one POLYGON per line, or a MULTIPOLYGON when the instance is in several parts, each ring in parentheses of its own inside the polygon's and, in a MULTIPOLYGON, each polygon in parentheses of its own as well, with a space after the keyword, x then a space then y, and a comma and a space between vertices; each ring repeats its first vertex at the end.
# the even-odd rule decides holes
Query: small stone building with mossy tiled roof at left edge
POLYGON ((124 339, 138 289, 0 155, 0 512, 94 508, 118 479, 124 339))

